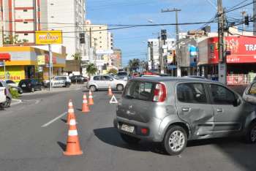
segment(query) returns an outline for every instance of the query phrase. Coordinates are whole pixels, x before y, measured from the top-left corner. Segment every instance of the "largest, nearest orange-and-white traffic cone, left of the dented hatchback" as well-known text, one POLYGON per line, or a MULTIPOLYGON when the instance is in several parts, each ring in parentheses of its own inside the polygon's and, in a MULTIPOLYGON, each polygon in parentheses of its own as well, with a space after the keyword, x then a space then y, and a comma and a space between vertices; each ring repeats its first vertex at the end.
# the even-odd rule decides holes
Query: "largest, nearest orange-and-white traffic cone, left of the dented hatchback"
POLYGON ((81 155, 83 151, 80 149, 80 142, 78 137, 78 130, 75 123, 75 118, 71 116, 69 121, 69 132, 67 135, 67 147, 64 151, 66 156, 81 155))

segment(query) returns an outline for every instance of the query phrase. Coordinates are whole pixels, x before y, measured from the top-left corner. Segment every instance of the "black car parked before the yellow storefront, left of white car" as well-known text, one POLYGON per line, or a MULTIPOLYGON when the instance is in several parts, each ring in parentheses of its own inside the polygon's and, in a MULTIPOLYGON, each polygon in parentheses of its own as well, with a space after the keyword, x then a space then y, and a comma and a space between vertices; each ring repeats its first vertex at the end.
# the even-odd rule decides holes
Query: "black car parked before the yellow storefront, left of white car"
POLYGON ((37 90, 42 90, 42 83, 40 83, 36 79, 24 79, 20 80, 20 83, 18 85, 23 91, 30 91, 34 92, 37 90))

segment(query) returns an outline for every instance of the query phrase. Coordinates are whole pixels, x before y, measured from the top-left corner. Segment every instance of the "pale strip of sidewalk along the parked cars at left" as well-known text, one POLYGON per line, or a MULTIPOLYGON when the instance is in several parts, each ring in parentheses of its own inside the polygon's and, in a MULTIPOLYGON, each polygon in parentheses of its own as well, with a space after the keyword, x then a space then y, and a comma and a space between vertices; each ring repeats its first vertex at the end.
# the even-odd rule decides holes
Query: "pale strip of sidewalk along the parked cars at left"
POLYGON ((34 91, 34 92, 23 92, 20 96, 29 96, 33 94, 51 94, 61 91, 77 91, 80 89, 86 89, 86 84, 72 84, 69 88, 59 87, 59 88, 52 88, 52 91, 49 91, 49 88, 42 88, 42 91, 34 91))

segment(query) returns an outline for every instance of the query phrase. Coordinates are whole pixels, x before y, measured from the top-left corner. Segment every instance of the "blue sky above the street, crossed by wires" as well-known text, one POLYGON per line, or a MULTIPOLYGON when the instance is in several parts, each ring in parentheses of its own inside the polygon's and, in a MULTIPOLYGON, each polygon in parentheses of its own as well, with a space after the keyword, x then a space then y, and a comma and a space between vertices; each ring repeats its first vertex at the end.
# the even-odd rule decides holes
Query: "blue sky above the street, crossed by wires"
MULTIPOLYGON (((223 7, 230 9, 237 4, 238 7, 249 4, 252 0, 222 0, 223 7)), ((162 24, 175 23, 175 12, 161 12, 167 8, 181 9, 178 12, 179 23, 207 22, 214 18, 217 12, 217 0, 87 0, 86 19, 94 24, 162 24), (153 23, 149 23, 151 20, 153 23)), ((244 9, 249 16, 252 16, 252 4, 244 9)), ((242 9, 228 12, 230 20, 242 19, 242 9)), ((246 28, 252 29, 251 26, 246 28)), ((179 26, 179 30, 187 32, 202 27, 200 25, 179 26)), ((109 27, 111 28, 111 27, 109 27)), ((115 31, 114 47, 122 50, 123 66, 128 64, 129 59, 140 58, 146 60, 147 39, 157 38, 161 29, 167 29, 167 34, 175 34, 175 26, 153 26, 139 28, 125 28, 115 31)), ((217 31, 217 23, 211 24, 211 30, 217 31)), ((175 35, 169 35, 173 38, 175 35)))

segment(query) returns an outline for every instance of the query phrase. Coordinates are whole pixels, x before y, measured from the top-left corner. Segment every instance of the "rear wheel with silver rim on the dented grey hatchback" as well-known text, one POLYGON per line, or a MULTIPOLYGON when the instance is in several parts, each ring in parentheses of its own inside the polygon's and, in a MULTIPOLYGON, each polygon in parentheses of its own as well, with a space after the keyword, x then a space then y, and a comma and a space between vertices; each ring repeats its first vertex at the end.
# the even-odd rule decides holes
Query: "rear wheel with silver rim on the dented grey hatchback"
POLYGON ((187 146, 187 132, 181 126, 170 126, 165 134, 163 145, 165 151, 171 156, 180 154, 187 146))

